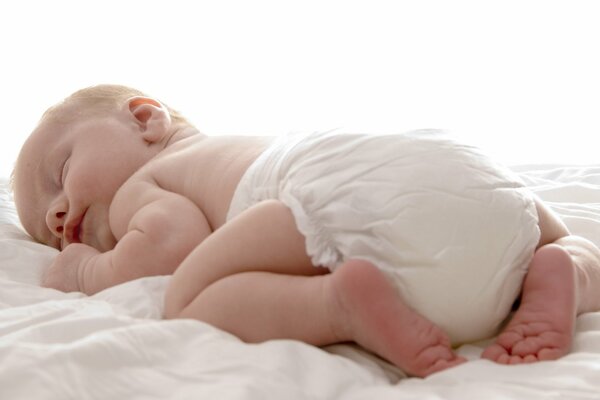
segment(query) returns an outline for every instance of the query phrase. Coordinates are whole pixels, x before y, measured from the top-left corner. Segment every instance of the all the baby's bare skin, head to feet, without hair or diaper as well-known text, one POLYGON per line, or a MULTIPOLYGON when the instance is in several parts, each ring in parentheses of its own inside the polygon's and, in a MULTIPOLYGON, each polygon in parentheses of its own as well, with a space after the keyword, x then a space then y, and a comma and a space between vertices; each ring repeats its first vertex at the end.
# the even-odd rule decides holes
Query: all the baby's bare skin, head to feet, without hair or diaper
MULTIPOLYGON (((28 232, 64 248, 46 286, 92 294, 175 272, 168 318, 197 318, 252 342, 356 341, 415 376, 465 361, 371 264, 350 260, 332 274, 315 268, 281 202, 258 203, 226 222, 238 182, 270 139, 189 129, 172 124, 151 98, 131 98, 113 114, 70 125, 40 124, 17 164, 15 199, 28 232)), ((556 242, 571 264, 544 261, 546 251, 536 255, 521 309, 484 353, 501 363, 565 354, 576 313, 600 309, 597 248, 569 236, 541 203, 538 214, 540 246, 556 242), (540 278, 546 265, 561 279, 540 278), (565 271, 574 274, 571 281, 562 279, 565 271), (560 318, 534 332, 542 342, 515 339, 554 312, 545 306, 552 285, 564 294, 555 305, 564 311, 560 318)))

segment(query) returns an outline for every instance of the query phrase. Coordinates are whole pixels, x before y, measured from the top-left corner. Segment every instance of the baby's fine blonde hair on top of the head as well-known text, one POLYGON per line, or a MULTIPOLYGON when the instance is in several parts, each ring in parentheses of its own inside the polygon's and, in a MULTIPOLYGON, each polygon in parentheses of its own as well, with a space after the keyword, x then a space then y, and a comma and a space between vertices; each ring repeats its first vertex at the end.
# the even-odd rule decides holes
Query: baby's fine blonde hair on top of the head
MULTIPOLYGON (((42 115, 42 120, 53 119, 62 122, 70 122, 79 117, 98 115, 102 113, 113 112, 123 103, 133 96, 150 97, 144 92, 123 85, 95 85, 80 89, 71 94, 63 101, 50 107, 42 115), (67 111, 71 106, 77 104, 77 112, 69 113, 67 111)), ((169 111, 171 120, 176 124, 192 126, 192 124, 178 111, 161 102, 169 111)))

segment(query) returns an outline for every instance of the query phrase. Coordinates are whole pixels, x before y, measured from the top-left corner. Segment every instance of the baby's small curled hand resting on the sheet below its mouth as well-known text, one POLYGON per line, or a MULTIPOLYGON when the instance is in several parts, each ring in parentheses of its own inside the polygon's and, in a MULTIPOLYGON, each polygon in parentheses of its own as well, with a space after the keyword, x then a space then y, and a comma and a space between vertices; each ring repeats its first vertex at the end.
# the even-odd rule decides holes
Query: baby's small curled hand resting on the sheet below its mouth
POLYGON ((83 266, 98 254, 98 250, 83 243, 68 245, 44 273, 42 286, 63 292, 80 292, 79 274, 83 266))

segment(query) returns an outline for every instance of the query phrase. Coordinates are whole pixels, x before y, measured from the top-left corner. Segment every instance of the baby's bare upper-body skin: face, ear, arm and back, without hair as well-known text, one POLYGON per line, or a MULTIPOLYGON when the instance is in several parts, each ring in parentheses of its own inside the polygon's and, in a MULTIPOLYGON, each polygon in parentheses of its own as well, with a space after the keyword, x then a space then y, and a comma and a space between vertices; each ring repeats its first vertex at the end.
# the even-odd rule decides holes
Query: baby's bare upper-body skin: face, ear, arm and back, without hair
POLYGON ((171 274, 225 222, 237 182, 270 139, 189 132, 156 104, 68 126, 43 121, 24 145, 15 169, 21 221, 64 249, 47 286, 92 294, 171 274), (141 108, 162 122, 137 121, 141 108))

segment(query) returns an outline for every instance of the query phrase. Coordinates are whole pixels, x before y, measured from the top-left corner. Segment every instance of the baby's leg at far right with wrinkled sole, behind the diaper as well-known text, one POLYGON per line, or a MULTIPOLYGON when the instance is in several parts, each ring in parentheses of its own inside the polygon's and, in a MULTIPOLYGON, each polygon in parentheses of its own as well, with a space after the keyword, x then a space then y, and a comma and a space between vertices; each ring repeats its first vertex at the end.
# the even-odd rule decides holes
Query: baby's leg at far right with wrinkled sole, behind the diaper
POLYGON ((537 206, 542 237, 523 283, 521 304, 482 355, 503 364, 565 355, 576 315, 600 309, 600 251, 570 236, 541 202, 537 206))

